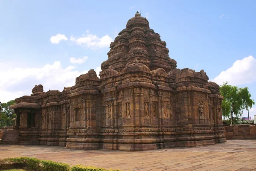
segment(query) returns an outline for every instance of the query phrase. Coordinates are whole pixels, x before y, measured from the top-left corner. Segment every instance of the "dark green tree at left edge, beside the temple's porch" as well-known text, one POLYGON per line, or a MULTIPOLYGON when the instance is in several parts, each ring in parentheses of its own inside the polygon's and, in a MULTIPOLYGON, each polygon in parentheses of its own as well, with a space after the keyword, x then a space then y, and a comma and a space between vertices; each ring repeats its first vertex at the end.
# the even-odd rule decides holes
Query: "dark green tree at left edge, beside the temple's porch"
POLYGON ((12 126, 12 119, 15 118, 14 110, 9 109, 9 107, 15 104, 14 100, 8 101, 7 103, 1 103, 0 104, 0 126, 12 126))

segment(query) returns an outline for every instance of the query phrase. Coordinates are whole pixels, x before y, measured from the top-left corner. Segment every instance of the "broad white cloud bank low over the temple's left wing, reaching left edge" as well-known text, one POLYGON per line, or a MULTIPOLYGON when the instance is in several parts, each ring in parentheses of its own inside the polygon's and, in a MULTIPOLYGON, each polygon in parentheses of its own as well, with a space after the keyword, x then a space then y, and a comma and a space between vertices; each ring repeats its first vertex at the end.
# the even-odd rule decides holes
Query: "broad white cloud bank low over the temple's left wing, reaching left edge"
MULTIPOLYGON (((32 94, 32 88, 38 84, 44 86, 44 91, 62 91, 64 87, 75 85, 76 77, 88 72, 87 70, 79 72, 74 70, 75 68, 74 66, 63 68, 58 61, 53 64, 46 64, 41 68, 14 68, 9 70, 0 68, 0 101, 4 103, 24 95, 30 95, 32 94)), ((100 67, 97 67, 97 74, 99 70, 100 67)))

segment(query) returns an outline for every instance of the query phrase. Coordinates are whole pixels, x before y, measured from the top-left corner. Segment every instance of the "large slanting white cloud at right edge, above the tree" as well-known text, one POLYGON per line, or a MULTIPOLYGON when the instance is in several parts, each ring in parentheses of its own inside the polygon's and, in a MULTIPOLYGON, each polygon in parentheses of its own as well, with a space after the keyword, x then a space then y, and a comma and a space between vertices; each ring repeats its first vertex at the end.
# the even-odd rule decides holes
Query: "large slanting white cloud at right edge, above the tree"
POLYGON ((228 82, 230 85, 240 85, 256 82, 256 59, 253 56, 248 56, 242 60, 234 62, 233 66, 222 71, 212 81, 217 84, 228 82))

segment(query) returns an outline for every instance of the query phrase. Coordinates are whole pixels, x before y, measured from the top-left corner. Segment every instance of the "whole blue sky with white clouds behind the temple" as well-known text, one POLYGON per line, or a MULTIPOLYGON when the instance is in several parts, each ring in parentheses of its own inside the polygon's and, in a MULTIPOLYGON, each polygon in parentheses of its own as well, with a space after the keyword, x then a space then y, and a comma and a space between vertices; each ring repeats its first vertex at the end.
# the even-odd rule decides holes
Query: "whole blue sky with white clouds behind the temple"
POLYGON ((109 43, 140 9, 178 68, 247 86, 256 99, 255 6, 253 0, 0 0, 0 101, 29 95, 35 84, 62 91, 88 70, 99 72, 109 43))

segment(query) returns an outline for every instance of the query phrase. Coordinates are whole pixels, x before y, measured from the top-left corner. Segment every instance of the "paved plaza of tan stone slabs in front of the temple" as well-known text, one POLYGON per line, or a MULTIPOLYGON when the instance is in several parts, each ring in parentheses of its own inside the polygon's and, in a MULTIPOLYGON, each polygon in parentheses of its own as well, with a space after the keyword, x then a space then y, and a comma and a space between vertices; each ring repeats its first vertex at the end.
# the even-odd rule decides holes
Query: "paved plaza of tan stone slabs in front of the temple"
POLYGON ((227 140, 203 147, 140 152, 0 145, 0 158, 21 156, 124 171, 256 171, 256 140, 227 140))

